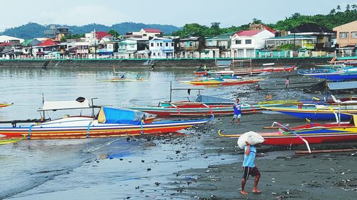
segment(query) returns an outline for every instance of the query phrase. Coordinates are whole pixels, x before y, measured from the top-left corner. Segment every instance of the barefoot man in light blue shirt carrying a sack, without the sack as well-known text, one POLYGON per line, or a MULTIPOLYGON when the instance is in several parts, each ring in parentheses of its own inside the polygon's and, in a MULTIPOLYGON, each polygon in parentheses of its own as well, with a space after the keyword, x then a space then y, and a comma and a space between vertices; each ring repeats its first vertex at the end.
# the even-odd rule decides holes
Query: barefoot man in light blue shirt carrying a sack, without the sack
MULTIPOLYGON (((258 147, 257 144, 256 146, 258 147)), ((259 194, 261 193, 260 190, 258 190, 258 182, 259 179, 261 178, 261 173, 259 172, 258 168, 256 167, 256 164, 254 164, 254 160, 256 159, 256 147, 254 145, 249 144, 246 141, 246 146, 244 147, 244 161, 243 161, 243 178, 242 178, 242 186, 241 186, 241 194, 248 194, 248 191, 246 191, 245 186, 246 186, 246 180, 248 180, 249 175, 252 177, 256 177, 254 179, 254 185, 253 185, 253 193, 259 194)))

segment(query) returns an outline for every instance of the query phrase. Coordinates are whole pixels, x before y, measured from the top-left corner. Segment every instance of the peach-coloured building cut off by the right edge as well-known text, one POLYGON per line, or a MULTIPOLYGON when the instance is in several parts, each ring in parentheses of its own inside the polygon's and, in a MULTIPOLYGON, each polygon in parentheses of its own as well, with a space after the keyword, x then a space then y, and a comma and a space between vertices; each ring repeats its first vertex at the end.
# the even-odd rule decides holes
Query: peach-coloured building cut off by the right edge
POLYGON ((351 55, 357 48, 357 20, 333 28, 337 35, 337 50, 351 55))

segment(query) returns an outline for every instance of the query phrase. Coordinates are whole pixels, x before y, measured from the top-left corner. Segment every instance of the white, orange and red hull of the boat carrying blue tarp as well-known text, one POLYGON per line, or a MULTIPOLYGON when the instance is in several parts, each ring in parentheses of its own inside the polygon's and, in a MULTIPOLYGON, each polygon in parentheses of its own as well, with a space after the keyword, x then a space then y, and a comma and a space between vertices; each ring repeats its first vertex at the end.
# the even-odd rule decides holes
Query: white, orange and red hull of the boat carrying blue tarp
POLYGON ((41 139, 80 139, 93 137, 124 137, 134 135, 164 134, 177 132, 208 120, 153 122, 144 125, 101 124, 97 120, 61 119, 45 122, 32 127, 0 127, 4 139, 19 139, 24 136, 28 140, 41 139))

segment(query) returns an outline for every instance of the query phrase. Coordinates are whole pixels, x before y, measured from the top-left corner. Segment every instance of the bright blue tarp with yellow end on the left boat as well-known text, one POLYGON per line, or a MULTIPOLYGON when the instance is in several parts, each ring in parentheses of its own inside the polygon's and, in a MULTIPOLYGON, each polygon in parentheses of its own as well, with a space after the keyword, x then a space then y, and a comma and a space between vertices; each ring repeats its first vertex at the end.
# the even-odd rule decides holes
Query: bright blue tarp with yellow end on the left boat
POLYGON ((129 124, 140 125, 145 118, 144 112, 134 110, 117 109, 113 107, 101 107, 98 122, 103 124, 129 124))

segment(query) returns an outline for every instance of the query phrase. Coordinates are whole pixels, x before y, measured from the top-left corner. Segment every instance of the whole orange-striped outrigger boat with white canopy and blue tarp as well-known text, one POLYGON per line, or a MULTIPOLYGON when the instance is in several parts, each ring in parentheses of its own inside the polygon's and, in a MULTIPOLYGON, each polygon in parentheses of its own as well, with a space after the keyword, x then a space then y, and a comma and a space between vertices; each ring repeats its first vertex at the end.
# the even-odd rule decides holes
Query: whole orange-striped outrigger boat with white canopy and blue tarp
POLYGON ((79 139, 89 137, 121 137, 134 135, 164 134, 183 130, 193 125, 199 125, 213 119, 186 120, 186 121, 146 121, 144 112, 134 110, 101 107, 99 113, 94 115, 94 108, 89 105, 89 100, 80 101, 45 101, 40 111, 92 109, 91 116, 69 116, 57 120, 39 122, 27 127, 0 127, 0 134, 6 139, 19 139, 26 136, 27 140, 34 139, 79 139))

